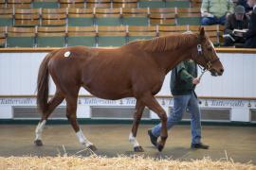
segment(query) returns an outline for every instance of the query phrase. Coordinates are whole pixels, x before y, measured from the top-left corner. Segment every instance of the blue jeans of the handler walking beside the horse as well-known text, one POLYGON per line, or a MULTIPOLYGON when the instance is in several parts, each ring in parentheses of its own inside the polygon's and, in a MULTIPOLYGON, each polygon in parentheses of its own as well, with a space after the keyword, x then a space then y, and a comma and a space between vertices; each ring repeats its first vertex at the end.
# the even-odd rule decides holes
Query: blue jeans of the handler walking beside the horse
MULTIPOLYGON (((174 95, 174 111, 167 119, 168 130, 174 127, 181 119, 188 108, 191 114, 192 144, 201 142, 201 111, 199 110, 197 96, 194 92, 185 95, 174 95)), ((160 136, 161 124, 152 128, 155 137, 160 136)))

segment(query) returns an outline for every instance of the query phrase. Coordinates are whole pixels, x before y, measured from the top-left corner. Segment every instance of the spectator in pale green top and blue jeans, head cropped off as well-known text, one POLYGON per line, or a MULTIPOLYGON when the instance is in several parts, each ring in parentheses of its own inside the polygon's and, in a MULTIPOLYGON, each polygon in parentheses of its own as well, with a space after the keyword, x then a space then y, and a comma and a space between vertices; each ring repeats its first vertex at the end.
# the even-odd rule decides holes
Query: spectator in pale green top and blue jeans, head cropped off
POLYGON ((203 0, 201 25, 225 25, 227 16, 233 12, 232 0, 203 0))

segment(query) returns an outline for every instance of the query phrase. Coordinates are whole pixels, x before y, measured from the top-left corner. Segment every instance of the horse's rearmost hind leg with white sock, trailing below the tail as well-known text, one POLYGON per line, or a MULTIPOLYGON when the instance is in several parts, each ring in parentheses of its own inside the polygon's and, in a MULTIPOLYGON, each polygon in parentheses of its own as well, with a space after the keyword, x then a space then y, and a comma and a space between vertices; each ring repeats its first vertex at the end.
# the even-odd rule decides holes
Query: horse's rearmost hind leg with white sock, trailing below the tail
POLYGON ((43 145, 42 142, 42 133, 44 130, 44 127, 46 126, 46 120, 48 119, 49 115, 52 113, 52 111, 60 105, 64 101, 64 95, 60 91, 56 91, 54 96, 49 100, 48 102, 48 108, 46 112, 42 113, 42 118, 40 122, 38 123, 38 126, 35 129, 35 140, 34 143, 36 145, 43 145))

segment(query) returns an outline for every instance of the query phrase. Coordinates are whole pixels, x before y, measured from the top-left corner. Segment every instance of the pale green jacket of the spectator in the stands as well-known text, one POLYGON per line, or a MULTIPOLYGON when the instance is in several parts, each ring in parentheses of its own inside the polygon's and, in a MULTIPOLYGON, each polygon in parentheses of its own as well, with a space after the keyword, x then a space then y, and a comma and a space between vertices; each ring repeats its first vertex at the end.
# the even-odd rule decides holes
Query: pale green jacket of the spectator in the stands
POLYGON ((222 17, 227 12, 233 13, 234 4, 232 0, 203 0, 201 11, 206 11, 216 17, 222 17))

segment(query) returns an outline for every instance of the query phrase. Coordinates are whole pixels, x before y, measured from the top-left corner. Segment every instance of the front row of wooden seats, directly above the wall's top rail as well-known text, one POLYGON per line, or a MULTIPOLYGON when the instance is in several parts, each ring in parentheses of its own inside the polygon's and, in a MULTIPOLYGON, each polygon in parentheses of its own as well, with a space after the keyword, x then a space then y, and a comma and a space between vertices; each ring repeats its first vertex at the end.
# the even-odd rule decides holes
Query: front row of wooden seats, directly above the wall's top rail
MULTIPOLYGON (((205 26, 216 45, 222 42, 223 29, 223 26, 205 26)), ((189 30, 197 32, 199 26, 0 26, 0 40, 2 47, 120 46, 189 30)))

